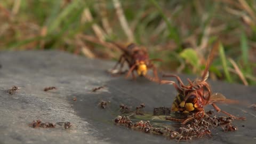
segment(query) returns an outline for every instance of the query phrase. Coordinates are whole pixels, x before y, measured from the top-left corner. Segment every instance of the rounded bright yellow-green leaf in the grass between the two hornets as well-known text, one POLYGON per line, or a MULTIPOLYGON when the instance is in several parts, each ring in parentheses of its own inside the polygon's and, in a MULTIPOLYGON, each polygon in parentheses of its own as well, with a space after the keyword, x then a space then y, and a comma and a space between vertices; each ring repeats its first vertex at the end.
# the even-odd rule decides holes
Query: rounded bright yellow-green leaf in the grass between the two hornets
POLYGON ((196 68, 199 67, 199 60, 198 60, 196 51, 194 49, 188 48, 188 49, 183 50, 180 53, 180 57, 185 59, 192 66, 194 66, 196 68))

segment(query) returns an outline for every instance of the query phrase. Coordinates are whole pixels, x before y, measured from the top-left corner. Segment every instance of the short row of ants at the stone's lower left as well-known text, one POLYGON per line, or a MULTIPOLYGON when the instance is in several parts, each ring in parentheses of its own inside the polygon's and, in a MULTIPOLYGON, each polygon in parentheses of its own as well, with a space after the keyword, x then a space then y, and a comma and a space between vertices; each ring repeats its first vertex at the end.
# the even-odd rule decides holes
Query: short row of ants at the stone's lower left
MULTIPOLYGON (((60 126, 64 125, 65 129, 68 129, 69 127, 71 127, 71 123, 70 122, 58 122, 56 123, 60 126)), ((42 128, 55 128, 55 124, 54 123, 50 123, 50 122, 46 122, 43 123, 42 121, 40 121, 39 119, 36 121, 33 121, 31 124, 29 124, 29 126, 33 127, 33 128, 38 128, 38 127, 42 127, 42 128)))

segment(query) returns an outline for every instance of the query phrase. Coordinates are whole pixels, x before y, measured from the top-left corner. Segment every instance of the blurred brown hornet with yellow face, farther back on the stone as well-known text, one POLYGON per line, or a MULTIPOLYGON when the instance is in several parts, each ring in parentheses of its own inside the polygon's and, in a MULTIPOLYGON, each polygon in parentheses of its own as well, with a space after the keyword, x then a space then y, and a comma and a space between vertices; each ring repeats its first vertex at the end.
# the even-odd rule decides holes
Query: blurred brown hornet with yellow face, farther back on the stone
POLYGON ((134 71, 139 76, 144 76, 150 81, 158 82, 157 69, 152 61, 162 61, 161 59, 149 59, 148 51, 145 47, 139 47, 134 43, 129 44, 127 47, 123 47, 117 43, 113 43, 117 46, 123 54, 120 56, 116 65, 109 72, 111 74, 122 74, 124 63, 129 65, 129 71, 126 74, 126 78, 132 74, 132 78, 135 79, 134 71), (116 69, 119 65, 119 70, 116 69), (148 70, 153 69, 153 77, 148 75, 148 70))

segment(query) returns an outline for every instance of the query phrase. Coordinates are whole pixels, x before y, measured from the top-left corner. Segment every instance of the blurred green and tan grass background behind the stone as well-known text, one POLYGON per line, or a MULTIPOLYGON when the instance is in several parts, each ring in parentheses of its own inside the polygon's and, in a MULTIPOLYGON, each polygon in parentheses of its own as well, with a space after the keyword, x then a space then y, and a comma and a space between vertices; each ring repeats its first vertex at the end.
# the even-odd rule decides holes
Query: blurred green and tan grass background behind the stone
MULTIPOLYGON (((62 50, 115 59, 110 41, 147 47, 160 70, 256 84, 255 0, 0 0, 1 50, 62 50)), ((84 63, 86 65, 86 63, 84 63)))

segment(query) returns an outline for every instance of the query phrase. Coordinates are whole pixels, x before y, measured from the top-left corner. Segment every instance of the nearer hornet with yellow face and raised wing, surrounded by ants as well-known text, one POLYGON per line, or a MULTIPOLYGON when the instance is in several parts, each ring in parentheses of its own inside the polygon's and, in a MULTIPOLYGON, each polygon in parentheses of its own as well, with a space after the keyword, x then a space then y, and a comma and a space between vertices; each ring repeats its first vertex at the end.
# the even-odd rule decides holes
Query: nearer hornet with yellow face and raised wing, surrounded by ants
POLYGON ((201 119, 204 117, 204 106, 212 105, 215 110, 222 112, 234 119, 245 119, 245 117, 236 117, 226 111, 221 110, 215 103, 239 103, 236 100, 226 99, 221 93, 212 93, 210 85, 206 82, 209 77, 209 67, 214 58, 214 52, 218 50, 219 42, 215 43, 213 49, 210 52, 207 59, 206 66, 201 79, 190 81, 188 78, 188 85, 184 85, 180 77, 177 75, 163 75, 163 77, 175 77, 178 81, 178 85, 173 81, 160 81, 161 84, 172 84, 178 91, 178 95, 175 97, 171 111, 178 112, 180 114, 192 114, 192 117, 187 119, 177 119, 172 117, 166 117, 171 121, 178 121, 181 124, 186 124, 192 119, 201 119))

